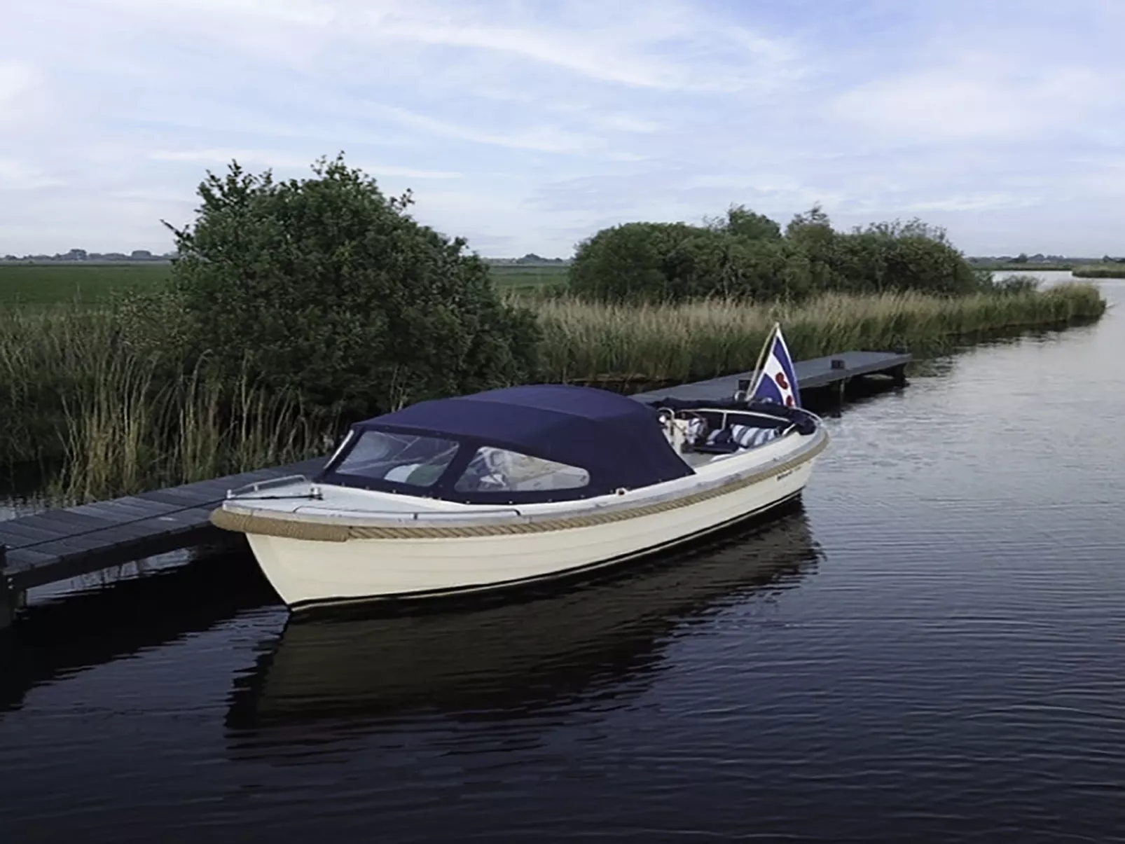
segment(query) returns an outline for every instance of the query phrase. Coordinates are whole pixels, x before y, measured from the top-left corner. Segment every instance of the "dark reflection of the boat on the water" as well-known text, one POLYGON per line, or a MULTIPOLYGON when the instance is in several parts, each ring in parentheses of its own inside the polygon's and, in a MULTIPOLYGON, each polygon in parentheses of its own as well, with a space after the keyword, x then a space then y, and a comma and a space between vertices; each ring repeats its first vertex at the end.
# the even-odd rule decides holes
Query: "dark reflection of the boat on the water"
POLYGON ((566 593, 456 612, 291 619, 235 681, 227 727, 259 738, 296 727, 307 739, 316 724, 351 731, 357 721, 418 716, 511 718, 613 697, 626 692, 623 679, 651 677, 677 627, 752 593, 792 587, 819 556, 795 503, 767 522, 566 593))

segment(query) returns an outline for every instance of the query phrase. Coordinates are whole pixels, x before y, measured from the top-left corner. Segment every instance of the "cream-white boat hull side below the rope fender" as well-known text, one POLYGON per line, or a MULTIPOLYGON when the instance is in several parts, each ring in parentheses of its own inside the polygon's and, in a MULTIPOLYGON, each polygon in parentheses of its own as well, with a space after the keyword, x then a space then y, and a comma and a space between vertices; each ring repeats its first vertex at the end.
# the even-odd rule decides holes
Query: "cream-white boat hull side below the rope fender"
POLYGON ((583 527, 420 538, 317 541, 248 532, 290 609, 500 590, 616 565, 768 511, 800 494, 813 459, 729 492, 583 527))

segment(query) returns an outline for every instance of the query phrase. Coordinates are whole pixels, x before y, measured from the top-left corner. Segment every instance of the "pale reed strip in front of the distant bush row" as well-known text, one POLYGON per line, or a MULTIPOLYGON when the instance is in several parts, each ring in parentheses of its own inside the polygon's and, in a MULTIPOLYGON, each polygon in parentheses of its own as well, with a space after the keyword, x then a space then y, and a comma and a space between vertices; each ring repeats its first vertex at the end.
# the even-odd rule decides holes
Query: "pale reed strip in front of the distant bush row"
POLYGON ((927 354, 974 336, 1094 320, 1106 305, 1092 285, 1070 284, 1043 293, 955 298, 831 294, 800 305, 722 299, 606 305, 562 298, 533 307, 544 332, 546 380, 663 383, 753 368, 775 321, 799 359, 849 349, 927 354))

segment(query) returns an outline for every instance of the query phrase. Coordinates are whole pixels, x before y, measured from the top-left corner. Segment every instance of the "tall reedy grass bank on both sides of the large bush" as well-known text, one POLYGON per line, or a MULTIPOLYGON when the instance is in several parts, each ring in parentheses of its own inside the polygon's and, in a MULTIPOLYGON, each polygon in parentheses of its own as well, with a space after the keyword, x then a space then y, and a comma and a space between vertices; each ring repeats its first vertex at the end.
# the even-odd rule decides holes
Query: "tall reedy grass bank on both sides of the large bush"
MULTIPOLYGON (((603 384, 749 369, 774 320, 800 359, 900 345, 926 354, 992 332, 1089 321, 1105 309, 1089 284, 961 298, 828 295, 800 306, 523 300, 544 331, 541 379, 603 384)), ((216 383, 199 361, 186 367, 174 352, 136 342, 128 324, 109 307, 0 309, 0 464, 61 460, 52 492, 72 502, 328 449, 335 420, 258 388, 250 374, 216 383), (184 369, 195 375, 174 375, 184 369)))

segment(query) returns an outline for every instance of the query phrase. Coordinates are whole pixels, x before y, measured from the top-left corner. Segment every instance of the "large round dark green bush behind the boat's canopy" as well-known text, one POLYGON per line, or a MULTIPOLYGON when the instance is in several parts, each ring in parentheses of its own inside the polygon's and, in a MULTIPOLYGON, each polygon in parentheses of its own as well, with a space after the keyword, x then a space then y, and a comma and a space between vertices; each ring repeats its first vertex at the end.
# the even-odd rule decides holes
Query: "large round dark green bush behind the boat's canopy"
POLYGON ((385 196, 343 154, 313 173, 232 162, 199 185, 191 225, 165 223, 195 353, 352 417, 533 375, 534 316, 500 299, 464 239, 415 222, 410 192, 385 196))

